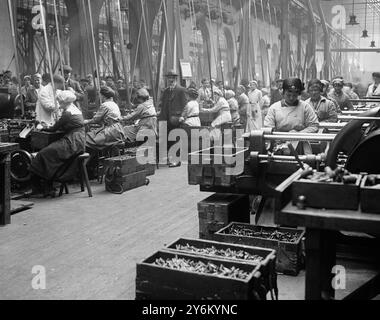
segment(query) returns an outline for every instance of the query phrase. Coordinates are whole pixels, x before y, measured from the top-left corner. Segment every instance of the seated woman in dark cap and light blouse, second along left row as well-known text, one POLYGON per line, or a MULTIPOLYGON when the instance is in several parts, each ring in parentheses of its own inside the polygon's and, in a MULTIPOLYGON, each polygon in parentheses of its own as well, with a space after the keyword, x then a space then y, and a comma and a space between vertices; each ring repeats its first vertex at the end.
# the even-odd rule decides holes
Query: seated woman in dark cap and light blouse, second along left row
POLYGON ((100 89, 101 106, 91 120, 85 120, 85 124, 101 124, 100 129, 95 129, 86 134, 86 147, 92 150, 102 151, 126 140, 124 128, 121 124, 119 106, 114 102, 115 92, 109 87, 100 89))

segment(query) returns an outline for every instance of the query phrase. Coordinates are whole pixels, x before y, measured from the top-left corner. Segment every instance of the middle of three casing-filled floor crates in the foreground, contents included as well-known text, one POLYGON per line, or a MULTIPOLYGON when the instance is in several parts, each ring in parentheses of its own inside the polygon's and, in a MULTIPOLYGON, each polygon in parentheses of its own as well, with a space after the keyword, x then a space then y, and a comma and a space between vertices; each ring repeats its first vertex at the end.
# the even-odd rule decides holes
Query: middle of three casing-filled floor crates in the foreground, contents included
POLYGON ((272 300, 278 299, 275 250, 185 238, 174 241, 165 250, 258 265, 264 291, 272 300))

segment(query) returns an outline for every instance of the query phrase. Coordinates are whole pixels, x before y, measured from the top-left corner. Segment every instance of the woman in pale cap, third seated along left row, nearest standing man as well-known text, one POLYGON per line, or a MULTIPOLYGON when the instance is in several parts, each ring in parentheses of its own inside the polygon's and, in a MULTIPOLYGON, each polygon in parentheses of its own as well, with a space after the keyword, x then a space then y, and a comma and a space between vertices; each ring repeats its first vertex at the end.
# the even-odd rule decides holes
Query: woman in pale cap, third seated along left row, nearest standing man
POLYGON ((130 142, 135 142, 139 134, 157 136, 157 113, 150 98, 149 92, 142 88, 136 92, 136 109, 128 116, 124 117, 125 121, 135 121, 132 126, 124 127, 125 135, 130 142))

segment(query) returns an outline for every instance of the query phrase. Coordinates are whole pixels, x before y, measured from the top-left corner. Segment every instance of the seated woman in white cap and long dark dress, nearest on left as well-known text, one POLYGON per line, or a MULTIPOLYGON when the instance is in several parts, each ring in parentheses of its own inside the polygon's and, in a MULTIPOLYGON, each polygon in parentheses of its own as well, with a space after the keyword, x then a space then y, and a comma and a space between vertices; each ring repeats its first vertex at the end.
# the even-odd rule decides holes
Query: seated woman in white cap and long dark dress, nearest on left
POLYGON ((62 116, 54 126, 43 130, 63 131, 65 135, 42 149, 31 163, 32 195, 36 197, 53 195, 53 180, 63 179, 63 174, 65 180, 73 178, 75 171, 66 169, 85 150, 84 121, 82 112, 74 104, 77 99, 75 93, 71 90, 58 91, 56 98, 63 110, 62 116))

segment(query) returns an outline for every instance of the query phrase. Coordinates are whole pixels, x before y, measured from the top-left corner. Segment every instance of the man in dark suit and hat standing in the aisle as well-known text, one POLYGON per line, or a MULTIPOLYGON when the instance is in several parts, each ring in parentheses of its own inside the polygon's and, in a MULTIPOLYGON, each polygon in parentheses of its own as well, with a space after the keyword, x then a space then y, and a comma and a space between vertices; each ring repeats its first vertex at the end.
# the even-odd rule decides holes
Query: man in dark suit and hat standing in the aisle
MULTIPOLYGON (((158 105, 160 110, 159 121, 167 123, 167 134, 180 127, 180 118, 187 103, 186 89, 178 84, 178 74, 171 70, 166 74, 168 87, 163 91, 158 105)), ((168 137, 166 137, 167 139, 168 137)), ((168 139, 167 139, 168 140, 168 139)), ((168 150, 176 142, 167 141, 168 150)), ((181 162, 173 162, 168 158, 170 168, 179 167, 181 162)))

